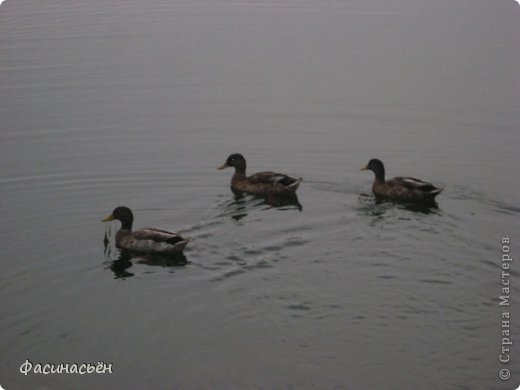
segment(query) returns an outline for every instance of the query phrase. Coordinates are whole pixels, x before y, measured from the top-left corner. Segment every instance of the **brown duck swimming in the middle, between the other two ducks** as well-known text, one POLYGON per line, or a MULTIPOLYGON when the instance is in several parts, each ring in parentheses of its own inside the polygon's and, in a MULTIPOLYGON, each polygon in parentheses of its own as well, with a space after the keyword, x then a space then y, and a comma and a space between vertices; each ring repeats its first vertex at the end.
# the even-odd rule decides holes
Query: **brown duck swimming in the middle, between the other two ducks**
POLYGON ((231 178, 231 189, 237 192, 253 195, 294 194, 302 182, 301 177, 295 179, 275 172, 259 172, 246 176, 246 159, 240 153, 231 154, 218 169, 229 167, 235 168, 231 178))

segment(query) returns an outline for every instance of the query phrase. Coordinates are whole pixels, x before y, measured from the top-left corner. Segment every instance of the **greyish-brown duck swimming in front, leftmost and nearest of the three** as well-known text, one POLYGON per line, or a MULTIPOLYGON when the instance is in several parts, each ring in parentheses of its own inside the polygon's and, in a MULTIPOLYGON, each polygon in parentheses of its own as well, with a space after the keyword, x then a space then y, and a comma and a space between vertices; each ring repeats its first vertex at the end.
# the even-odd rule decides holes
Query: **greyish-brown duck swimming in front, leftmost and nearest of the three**
POLYGON ((140 253, 173 255, 182 253, 188 240, 179 234, 156 228, 132 231, 134 215, 126 206, 116 207, 102 222, 118 220, 121 228, 116 233, 116 246, 140 253))

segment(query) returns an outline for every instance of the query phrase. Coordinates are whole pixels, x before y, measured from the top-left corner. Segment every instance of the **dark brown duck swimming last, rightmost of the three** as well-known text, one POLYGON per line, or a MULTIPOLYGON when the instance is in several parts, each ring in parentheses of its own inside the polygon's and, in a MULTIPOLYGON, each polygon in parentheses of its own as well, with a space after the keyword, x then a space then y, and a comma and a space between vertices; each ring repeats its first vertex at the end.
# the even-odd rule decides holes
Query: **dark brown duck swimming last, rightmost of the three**
POLYGON ((394 177, 385 180, 385 166, 377 158, 371 159, 361 170, 374 172, 372 192, 382 198, 404 202, 434 202, 435 197, 443 190, 414 177, 394 177))

